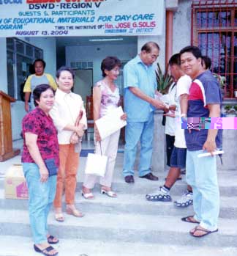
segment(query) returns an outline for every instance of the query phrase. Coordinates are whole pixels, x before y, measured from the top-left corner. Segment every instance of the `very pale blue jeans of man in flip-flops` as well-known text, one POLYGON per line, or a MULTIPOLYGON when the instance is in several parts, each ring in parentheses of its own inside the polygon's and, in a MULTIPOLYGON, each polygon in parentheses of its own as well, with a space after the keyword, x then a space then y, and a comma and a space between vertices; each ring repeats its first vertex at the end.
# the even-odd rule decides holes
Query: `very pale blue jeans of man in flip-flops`
POLYGON ((187 150, 186 179, 192 186, 195 219, 207 230, 217 229, 219 216, 219 187, 217 183, 217 158, 198 158, 203 150, 187 150))

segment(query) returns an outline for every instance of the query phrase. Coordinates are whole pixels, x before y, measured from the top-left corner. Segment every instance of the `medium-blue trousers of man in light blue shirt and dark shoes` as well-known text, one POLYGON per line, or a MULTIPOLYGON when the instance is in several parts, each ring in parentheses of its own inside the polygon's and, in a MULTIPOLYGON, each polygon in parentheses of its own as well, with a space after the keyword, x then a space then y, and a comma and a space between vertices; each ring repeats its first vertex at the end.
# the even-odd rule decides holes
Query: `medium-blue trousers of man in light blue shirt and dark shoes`
POLYGON ((146 122, 127 122, 124 147, 124 177, 134 175, 137 145, 140 140, 139 176, 151 172, 152 142, 154 136, 154 115, 150 113, 146 122))

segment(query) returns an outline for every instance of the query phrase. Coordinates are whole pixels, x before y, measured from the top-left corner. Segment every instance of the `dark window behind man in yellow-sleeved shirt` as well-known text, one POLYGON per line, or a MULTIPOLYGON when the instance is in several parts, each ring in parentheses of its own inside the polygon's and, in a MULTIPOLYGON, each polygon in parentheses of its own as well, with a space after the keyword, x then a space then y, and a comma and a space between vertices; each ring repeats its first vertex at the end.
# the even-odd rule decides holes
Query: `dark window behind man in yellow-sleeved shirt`
POLYGON ((20 84, 29 76, 34 59, 42 58, 43 51, 15 37, 7 38, 8 94, 20 100, 20 84))

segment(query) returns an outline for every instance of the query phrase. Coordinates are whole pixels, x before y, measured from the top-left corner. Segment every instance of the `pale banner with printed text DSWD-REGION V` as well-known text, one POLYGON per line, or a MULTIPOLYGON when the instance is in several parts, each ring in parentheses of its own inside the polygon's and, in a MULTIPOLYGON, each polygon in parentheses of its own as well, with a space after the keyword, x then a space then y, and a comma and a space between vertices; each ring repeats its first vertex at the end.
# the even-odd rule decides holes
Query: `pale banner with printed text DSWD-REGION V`
POLYGON ((164 0, 0 0, 0 37, 160 35, 164 0))

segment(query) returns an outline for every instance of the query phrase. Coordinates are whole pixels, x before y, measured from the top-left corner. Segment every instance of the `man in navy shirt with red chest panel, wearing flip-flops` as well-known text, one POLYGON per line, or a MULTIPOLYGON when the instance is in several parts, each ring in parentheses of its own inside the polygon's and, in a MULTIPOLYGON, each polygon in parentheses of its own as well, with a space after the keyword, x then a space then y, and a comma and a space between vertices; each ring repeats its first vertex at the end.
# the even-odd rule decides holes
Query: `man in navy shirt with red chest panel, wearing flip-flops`
MULTIPOLYGON (((181 68, 192 78, 189 89, 187 117, 220 117, 221 92, 217 79, 202 67, 200 49, 187 46, 180 51, 181 68)), ((189 121, 188 121, 189 122, 189 121)), ((213 153, 222 144, 221 130, 185 130, 187 144, 186 177, 193 190, 194 216, 182 218, 184 222, 198 223, 190 230, 195 237, 217 232, 219 216, 219 187, 216 156, 199 158, 200 153, 213 153)))

